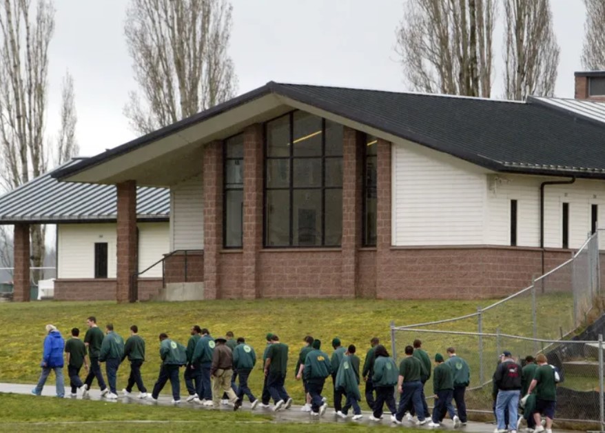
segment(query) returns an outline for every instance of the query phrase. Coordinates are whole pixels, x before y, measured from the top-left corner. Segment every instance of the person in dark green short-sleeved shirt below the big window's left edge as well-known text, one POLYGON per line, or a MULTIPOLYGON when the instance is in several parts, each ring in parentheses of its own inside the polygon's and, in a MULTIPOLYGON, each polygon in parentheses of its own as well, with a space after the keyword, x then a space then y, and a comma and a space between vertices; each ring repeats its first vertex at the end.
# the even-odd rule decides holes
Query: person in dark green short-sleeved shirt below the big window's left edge
POLYGON ((281 407, 289 409, 292 405, 292 399, 284 387, 288 367, 288 346, 280 343, 276 334, 271 336, 271 341, 265 361, 265 376, 267 376, 269 394, 275 403, 273 410, 278 411, 281 407))

